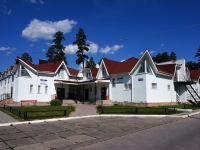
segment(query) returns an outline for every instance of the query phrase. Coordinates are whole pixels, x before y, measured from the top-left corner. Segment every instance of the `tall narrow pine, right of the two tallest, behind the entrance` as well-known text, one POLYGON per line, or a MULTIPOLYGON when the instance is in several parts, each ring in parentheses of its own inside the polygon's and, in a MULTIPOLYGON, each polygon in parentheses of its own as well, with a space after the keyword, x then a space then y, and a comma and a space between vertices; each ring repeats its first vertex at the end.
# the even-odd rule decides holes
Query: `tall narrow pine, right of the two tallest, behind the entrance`
POLYGON ((84 51, 89 51, 89 44, 86 43, 86 35, 84 33, 84 30, 82 28, 79 28, 78 33, 76 34, 76 41, 73 42, 73 44, 76 44, 78 46, 78 50, 76 52, 77 59, 76 64, 83 64, 84 69, 84 61, 85 59, 88 59, 88 56, 85 55, 84 51))

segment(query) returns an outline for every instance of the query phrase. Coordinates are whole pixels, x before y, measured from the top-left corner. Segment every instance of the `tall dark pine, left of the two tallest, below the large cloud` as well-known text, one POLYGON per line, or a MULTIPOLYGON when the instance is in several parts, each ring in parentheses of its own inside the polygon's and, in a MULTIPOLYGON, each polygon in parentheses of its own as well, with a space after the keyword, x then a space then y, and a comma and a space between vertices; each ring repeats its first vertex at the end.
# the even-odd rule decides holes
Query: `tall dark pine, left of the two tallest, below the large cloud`
POLYGON ((48 58, 49 62, 57 62, 63 60, 65 64, 68 65, 67 58, 64 52, 65 46, 63 46, 61 43, 62 40, 65 40, 63 32, 61 31, 56 32, 53 39, 54 44, 52 44, 48 49, 46 57, 48 58))

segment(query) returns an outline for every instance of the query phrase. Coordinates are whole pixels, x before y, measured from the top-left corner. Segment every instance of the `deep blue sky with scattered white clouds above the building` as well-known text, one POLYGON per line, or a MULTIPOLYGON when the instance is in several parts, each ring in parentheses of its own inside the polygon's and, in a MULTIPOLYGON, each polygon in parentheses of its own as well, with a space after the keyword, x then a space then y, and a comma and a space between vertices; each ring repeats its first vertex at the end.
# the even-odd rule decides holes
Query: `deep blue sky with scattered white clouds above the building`
POLYGON ((197 61, 199 8, 199 0, 0 0, 0 71, 24 52, 34 64, 46 59, 58 30, 65 33, 68 66, 79 69, 72 44, 79 28, 96 63, 102 57, 139 58, 147 48, 152 56, 174 51, 178 59, 197 61))

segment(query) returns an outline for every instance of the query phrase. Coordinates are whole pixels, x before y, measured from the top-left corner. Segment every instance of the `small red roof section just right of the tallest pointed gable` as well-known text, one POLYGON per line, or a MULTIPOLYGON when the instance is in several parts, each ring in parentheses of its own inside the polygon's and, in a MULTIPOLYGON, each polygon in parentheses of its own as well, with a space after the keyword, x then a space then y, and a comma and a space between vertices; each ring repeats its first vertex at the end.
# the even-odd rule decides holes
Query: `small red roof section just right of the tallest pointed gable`
POLYGON ((159 72, 164 72, 168 74, 174 74, 176 64, 163 64, 163 65, 156 65, 159 72))

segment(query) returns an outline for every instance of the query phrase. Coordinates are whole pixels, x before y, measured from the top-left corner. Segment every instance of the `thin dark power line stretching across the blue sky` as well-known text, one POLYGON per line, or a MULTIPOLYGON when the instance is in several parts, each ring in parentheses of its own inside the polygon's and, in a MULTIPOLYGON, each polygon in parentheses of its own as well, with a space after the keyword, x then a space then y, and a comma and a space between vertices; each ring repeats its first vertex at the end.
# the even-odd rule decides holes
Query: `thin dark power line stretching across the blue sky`
MULTIPOLYGON (((185 26, 185 27, 181 27, 181 28, 174 28, 174 29, 165 30, 165 31, 161 31, 161 32, 155 32, 155 33, 144 34, 144 35, 140 35, 140 36, 134 36, 134 37, 130 37, 130 38, 123 38, 123 39, 118 39, 118 40, 112 40, 112 41, 102 42, 102 43, 95 43, 95 44, 103 45, 103 44, 109 44, 109 43, 114 43, 114 42, 133 40, 133 39, 137 39, 137 38, 143 38, 143 37, 148 37, 148 36, 153 36, 153 35, 159 35, 159 34, 164 34, 164 33, 168 33, 168 32, 173 32, 173 31, 188 29, 188 28, 193 28, 193 27, 196 27, 196 26, 200 26, 200 24, 194 24, 194 25, 185 26)), ((28 52, 28 53, 29 54, 41 53, 41 51, 28 52)), ((21 55, 21 54, 23 54, 23 53, 11 53, 9 55, 21 55)))

